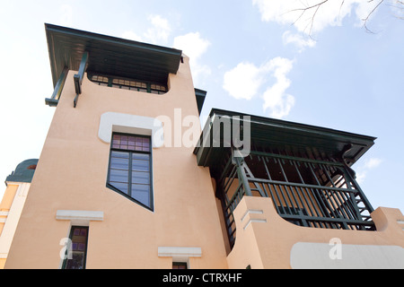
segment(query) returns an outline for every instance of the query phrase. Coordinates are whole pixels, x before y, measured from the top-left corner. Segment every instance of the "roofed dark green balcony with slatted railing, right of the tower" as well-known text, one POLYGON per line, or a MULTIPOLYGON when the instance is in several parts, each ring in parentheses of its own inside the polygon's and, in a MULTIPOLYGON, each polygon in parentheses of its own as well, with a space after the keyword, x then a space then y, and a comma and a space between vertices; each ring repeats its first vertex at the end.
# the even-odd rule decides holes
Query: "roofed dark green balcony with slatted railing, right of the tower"
POLYGON ((244 196, 270 198, 282 219, 305 228, 375 230, 351 169, 374 137, 218 109, 210 116, 194 153, 215 178, 230 248, 244 196))

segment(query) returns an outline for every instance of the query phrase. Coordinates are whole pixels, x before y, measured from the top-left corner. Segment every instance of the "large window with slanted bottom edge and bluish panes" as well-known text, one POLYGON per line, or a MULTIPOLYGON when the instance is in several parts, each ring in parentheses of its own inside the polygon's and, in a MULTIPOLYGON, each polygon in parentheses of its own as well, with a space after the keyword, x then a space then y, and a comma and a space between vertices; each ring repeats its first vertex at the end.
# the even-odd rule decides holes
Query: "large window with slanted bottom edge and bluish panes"
POLYGON ((113 134, 107 186, 153 210, 150 136, 113 134))

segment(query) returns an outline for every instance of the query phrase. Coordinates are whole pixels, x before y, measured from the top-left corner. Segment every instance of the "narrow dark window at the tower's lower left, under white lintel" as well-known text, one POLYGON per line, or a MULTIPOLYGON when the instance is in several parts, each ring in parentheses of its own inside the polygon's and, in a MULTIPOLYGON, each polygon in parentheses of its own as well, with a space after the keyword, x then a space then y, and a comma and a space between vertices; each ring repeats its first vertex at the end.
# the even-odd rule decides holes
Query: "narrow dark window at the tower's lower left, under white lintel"
POLYGON ((71 240, 66 252, 62 269, 85 269, 87 257, 88 227, 72 226, 69 239, 71 240))

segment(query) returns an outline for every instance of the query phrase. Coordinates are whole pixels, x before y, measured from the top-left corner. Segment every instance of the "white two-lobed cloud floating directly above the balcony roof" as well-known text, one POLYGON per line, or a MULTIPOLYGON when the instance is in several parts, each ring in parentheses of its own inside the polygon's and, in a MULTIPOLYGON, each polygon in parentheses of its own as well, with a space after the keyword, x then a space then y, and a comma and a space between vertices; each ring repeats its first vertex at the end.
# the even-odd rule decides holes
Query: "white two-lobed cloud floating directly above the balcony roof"
POLYGON ((263 109, 269 109, 271 117, 285 117, 294 106, 294 96, 285 91, 290 86, 286 74, 291 71, 293 60, 276 57, 257 67, 243 62, 224 74, 223 88, 237 100, 251 100, 259 94, 268 76, 275 78, 275 83, 268 85, 262 93, 263 109))

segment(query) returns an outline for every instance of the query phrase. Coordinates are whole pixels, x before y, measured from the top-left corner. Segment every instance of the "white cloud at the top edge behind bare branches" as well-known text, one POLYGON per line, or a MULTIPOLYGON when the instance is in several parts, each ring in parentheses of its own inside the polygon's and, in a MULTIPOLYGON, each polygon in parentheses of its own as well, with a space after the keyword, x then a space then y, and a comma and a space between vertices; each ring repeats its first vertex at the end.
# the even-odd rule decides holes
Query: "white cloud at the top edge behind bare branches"
POLYGON ((363 22, 379 3, 379 1, 369 0, 329 0, 321 4, 318 11, 314 7, 303 13, 302 9, 321 2, 321 0, 252 0, 252 4, 259 8, 262 21, 294 24, 297 30, 307 34, 321 31, 329 26, 339 26, 342 20, 353 12, 356 13, 358 22, 363 22), (314 22, 312 22, 313 17, 315 17, 314 22))

